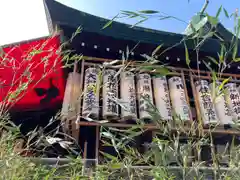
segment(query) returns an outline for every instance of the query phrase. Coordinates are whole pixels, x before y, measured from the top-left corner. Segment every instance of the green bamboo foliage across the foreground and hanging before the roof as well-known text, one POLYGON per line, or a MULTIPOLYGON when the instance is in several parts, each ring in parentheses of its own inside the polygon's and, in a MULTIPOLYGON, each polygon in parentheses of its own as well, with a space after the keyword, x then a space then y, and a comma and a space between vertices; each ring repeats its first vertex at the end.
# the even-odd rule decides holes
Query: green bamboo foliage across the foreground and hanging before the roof
MULTIPOLYGON (((196 53, 196 61, 203 61, 198 57, 199 50, 205 41, 207 41, 209 38, 212 38, 213 35, 216 35, 216 37, 221 40, 221 50, 220 52, 216 52, 218 56, 207 56, 206 60, 203 61, 203 63, 206 65, 206 68, 208 68, 210 71, 214 88, 216 88, 217 92, 224 91, 225 84, 231 81, 230 77, 221 77, 221 74, 225 71, 227 65, 240 61, 240 57, 237 56, 239 51, 238 38, 233 38, 231 44, 229 46, 225 46, 223 42, 224 40, 215 34, 216 32, 213 27, 216 27, 218 24, 219 17, 222 12, 224 12, 225 16, 229 18, 229 13, 222 6, 220 6, 215 16, 210 16, 205 12, 197 13, 197 15, 193 16, 191 23, 185 31, 186 37, 179 42, 180 44, 182 42, 184 43, 185 62, 191 71, 191 61, 189 57, 190 50, 186 44, 187 40, 193 40, 195 43, 195 48, 191 50, 191 52, 193 52, 191 55, 196 53), (203 29, 207 23, 210 23, 211 25, 210 31, 204 33, 203 29), (213 68, 209 65, 209 62, 213 63, 218 69, 213 70, 213 68)), ((159 20, 169 18, 179 20, 177 17, 162 15, 161 12, 155 10, 142 10, 137 12, 122 11, 111 21, 107 22, 103 26, 103 29, 111 26, 113 21, 119 18, 119 15, 124 15, 125 18, 141 18, 141 20, 133 26, 143 23, 152 17, 156 17, 159 20)), ((236 21, 236 28, 234 28, 235 35, 238 37, 240 33, 240 19, 236 14, 233 15, 236 21)), ((73 37, 70 38, 70 42, 80 33, 81 28, 78 28, 73 34, 73 37)), ((111 62, 105 62, 99 65, 99 68, 101 70, 104 70, 105 68, 119 69, 115 75, 116 77, 119 76, 122 71, 129 68, 131 68, 130 70, 134 72, 134 74, 138 74, 140 72, 150 72, 157 77, 171 75, 171 73, 174 72, 172 72, 166 66, 166 64, 161 64, 161 61, 159 60, 161 59, 161 56, 168 50, 169 49, 163 50, 163 44, 161 44, 157 46, 155 50, 150 53, 150 55, 142 55, 146 61, 140 63, 136 67, 132 67, 132 62, 128 60, 129 54, 132 50, 129 50, 127 47, 126 52, 123 53, 122 61, 115 60, 111 62)), ((38 53, 41 53, 41 48, 33 49, 33 52, 29 53, 29 57, 26 60, 31 60, 31 57, 38 53)), ((70 67, 72 66, 73 62, 82 60, 82 55, 72 55, 72 53, 73 52, 70 51, 61 51, 60 54, 63 56, 64 62, 63 68, 70 67)), ((2 53, 1 56, 4 56, 4 53, 2 53)), ((47 58, 43 59, 42 63, 46 62, 47 60, 47 58)), ((28 69, 27 71, 30 70, 28 69)), ((100 71, 98 74, 100 79, 102 78, 102 75, 102 71, 100 71)), ((17 101, 19 96, 28 88, 28 84, 29 82, 21 83, 16 91, 11 91, 7 96, 8 101, 17 101)), ((216 94, 220 95, 220 93, 216 94)), ((153 128, 154 131, 151 131, 153 133, 152 141, 143 145, 143 148, 145 149, 144 153, 140 153, 139 150, 132 148, 132 145, 137 142, 136 139, 150 132, 150 129, 146 127, 146 123, 142 120, 137 119, 136 124, 128 128, 114 128, 104 127, 104 124, 108 123, 108 120, 98 121, 94 118, 85 117, 86 121, 100 123, 103 125, 100 128, 101 143, 103 146, 113 147, 117 153, 117 156, 113 156, 106 152, 100 152, 100 157, 102 159, 99 160, 99 164, 97 164, 95 168, 91 169, 92 171, 89 171, 89 169, 86 168, 86 164, 80 157, 69 157, 68 164, 47 166, 34 162, 31 158, 20 156, 20 154, 16 153, 14 150, 14 142, 16 138, 21 136, 19 127, 16 127, 13 123, 11 123, 8 115, 8 109, 1 108, 0 118, 2 121, 0 123, 0 129, 5 129, 7 132, 5 134, 2 133, 0 138, 0 179, 133 180, 151 178, 155 180, 200 180, 206 179, 209 176, 212 176, 215 180, 239 179, 240 147, 234 146, 232 143, 231 152, 229 155, 225 155, 224 153, 217 154, 212 148, 214 143, 212 133, 217 125, 213 126, 212 129, 209 129, 209 132, 206 132, 206 129, 200 125, 198 125, 197 128, 193 125, 191 125, 189 128, 186 128, 181 119, 177 122, 173 121, 173 124, 169 122, 166 123, 162 120, 161 114, 154 104, 152 104, 151 101, 149 101, 149 99, 147 99, 145 96, 143 96, 143 99, 148 104, 149 109, 147 109, 147 111, 151 116, 151 120, 155 123, 153 128), (4 123, 6 121, 7 124, 4 123), (188 140, 186 140, 186 136, 188 136, 188 140), (203 161, 200 159, 202 146, 211 147, 211 163, 208 162, 208 160, 203 161), (192 149, 195 150, 194 158, 192 149), (223 168, 219 163, 223 157, 229 158, 230 165, 228 168, 223 168), (174 162, 175 164, 172 165, 171 162, 174 162), (206 165, 210 165, 210 167, 206 165)), ((121 99, 113 100, 120 107, 125 106, 121 99)), ((55 118, 49 122, 47 127, 54 121, 55 118)), ((33 150, 33 145, 37 150, 43 151, 45 148, 50 147, 53 143, 58 143, 69 152, 74 152, 72 142, 51 136, 50 134, 45 134, 45 128, 36 128, 32 132, 29 132, 27 137, 25 137, 27 138, 27 147, 24 149, 25 151, 33 150), (37 139, 37 141, 34 141, 34 139, 37 139)), ((239 130, 239 126, 237 124, 236 128, 239 130)), ((57 133, 58 129, 54 131, 55 135, 57 133)))

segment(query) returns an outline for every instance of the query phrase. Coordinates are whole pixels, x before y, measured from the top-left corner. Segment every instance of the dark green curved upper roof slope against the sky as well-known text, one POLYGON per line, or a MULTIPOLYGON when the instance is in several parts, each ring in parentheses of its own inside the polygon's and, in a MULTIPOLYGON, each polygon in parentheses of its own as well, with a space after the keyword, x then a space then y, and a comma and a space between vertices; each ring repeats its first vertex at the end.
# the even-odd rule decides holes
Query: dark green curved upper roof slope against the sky
MULTIPOLYGON (((72 28, 78 28, 81 26, 83 31, 98 33, 103 36, 111 36, 116 39, 131 40, 156 45, 163 43, 166 47, 176 45, 184 38, 184 35, 182 34, 152 30, 142 27, 130 28, 129 25, 119 22, 113 22, 110 27, 102 29, 109 21, 108 19, 78 11, 54 0, 44 1, 50 20, 53 24, 65 25, 72 28)), ((225 40, 231 39, 232 34, 221 24, 218 25, 217 29, 219 31, 219 35, 225 40)), ((188 41, 187 45, 190 49, 195 47, 191 41, 188 41)), ((177 47, 184 48, 183 44, 180 44, 177 47)), ((220 43, 217 39, 209 38, 203 44, 201 50, 208 53, 219 52, 220 43)))

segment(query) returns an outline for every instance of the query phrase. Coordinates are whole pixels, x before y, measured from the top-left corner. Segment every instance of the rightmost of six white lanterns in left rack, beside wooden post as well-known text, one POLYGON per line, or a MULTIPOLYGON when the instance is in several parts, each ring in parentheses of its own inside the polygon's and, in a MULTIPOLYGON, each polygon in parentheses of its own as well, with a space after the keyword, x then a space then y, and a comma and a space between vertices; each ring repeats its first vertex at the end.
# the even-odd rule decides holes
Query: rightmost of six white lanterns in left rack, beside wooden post
POLYGON ((182 79, 174 76, 168 80, 168 83, 175 119, 190 120, 190 108, 187 103, 182 79))

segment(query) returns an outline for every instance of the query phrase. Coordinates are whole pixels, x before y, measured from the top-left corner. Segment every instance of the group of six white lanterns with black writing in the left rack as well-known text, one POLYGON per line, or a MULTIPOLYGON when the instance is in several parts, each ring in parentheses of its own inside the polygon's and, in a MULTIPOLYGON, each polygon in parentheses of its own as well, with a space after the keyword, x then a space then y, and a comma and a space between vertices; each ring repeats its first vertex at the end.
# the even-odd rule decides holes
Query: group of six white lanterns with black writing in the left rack
POLYGON ((172 120, 171 104, 173 111, 179 118, 182 120, 190 119, 189 106, 180 77, 172 77, 167 81, 165 76, 151 78, 147 73, 136 76, 137 82, 135 83, 134 73, 121 72, 120 86, 118 86, 119 81, 115 70, 104 70, 101 83, 98 69, 86 69, 82 115, 99 117, 99 96, 102 85, 103 118, 117 119, 120 105, 121 118, 123 119, 136 119, 137 111, 140 119, 151 119, 149 110, 153 105, 153 99, 155 99, 156 108, 162 119, 172 120), (119 87, 120 95, 118 94, 119 87))

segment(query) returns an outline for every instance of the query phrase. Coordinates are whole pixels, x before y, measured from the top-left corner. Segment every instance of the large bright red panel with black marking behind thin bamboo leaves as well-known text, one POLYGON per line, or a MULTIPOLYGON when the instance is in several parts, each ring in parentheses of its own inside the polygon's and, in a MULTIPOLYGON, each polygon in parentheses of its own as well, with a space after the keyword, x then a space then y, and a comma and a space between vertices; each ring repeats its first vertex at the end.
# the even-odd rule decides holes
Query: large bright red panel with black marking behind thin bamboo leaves
POLYGON ((0 55, 1 103, 35 110, 62 102, 65 82, 59 35, 10 45, 0 55))

